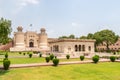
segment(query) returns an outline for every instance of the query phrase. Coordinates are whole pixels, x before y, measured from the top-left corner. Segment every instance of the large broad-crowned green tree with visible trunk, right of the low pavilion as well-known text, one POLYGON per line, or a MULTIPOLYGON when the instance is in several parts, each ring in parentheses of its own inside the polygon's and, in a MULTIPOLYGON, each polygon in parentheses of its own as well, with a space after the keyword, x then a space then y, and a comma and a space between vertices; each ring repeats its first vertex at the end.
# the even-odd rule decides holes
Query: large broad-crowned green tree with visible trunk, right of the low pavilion
POLYGON ((114 44, 118 40, 118 35, 111 30, 102 30, 94 34, 94 39, 96 39, 96 45, 105 44, 106 50, 109 51, 109 45, 114 44))

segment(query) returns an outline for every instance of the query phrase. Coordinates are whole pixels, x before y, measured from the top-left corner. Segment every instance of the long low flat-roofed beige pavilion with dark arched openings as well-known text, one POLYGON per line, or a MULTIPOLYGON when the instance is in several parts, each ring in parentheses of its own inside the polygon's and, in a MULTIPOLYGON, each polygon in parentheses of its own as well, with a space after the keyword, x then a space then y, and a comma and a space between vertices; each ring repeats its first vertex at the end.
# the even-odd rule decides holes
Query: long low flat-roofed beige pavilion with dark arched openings
POLYGON ((49 42, 50 51, 72 55, 94 53, 95 40, 85 39, 57 39, 49 42))

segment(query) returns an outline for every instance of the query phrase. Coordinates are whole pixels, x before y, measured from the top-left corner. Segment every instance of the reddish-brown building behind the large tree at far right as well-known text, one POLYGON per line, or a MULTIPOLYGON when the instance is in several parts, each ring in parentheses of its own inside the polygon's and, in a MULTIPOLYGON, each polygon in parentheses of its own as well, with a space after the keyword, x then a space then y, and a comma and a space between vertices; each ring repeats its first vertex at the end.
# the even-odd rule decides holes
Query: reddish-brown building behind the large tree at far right
MULTIPOLYGON (((120 50, 120 39, 118 39, 118 41, 114 44, 111 44, 109 46, 111 51, 119 51, 120 50)), ((106 51, 106 44, 100 44, 99 46, 97 46, 98 51, 106 51)))

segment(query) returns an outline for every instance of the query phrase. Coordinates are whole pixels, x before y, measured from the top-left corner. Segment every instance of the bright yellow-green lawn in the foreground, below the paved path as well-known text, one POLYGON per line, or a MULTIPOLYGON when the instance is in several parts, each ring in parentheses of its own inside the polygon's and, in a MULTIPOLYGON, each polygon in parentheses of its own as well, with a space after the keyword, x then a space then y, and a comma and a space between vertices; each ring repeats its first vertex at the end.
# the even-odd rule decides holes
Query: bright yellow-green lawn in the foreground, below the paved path
POLYGON ((1 70, 0 80, 120 80, 120 63, 104 62, 1 70))

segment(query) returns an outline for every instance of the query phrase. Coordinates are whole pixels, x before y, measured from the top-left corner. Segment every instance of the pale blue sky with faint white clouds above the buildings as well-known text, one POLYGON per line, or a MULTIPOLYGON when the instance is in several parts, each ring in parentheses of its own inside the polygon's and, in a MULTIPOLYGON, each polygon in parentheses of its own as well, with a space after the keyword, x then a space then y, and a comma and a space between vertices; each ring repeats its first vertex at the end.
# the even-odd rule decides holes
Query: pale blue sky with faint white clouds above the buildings
POLYGON ((120 0, 0 0, 0 17, 12 21, 11 37, 18 26, 24 32, 45 28, 50 38, 103 29, 120 35, 120 0))

